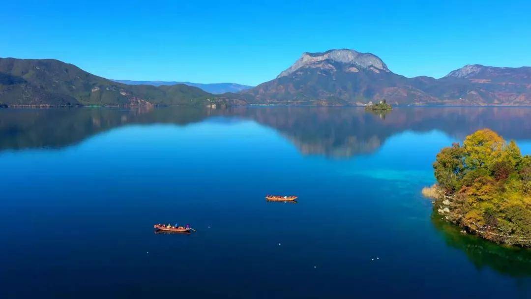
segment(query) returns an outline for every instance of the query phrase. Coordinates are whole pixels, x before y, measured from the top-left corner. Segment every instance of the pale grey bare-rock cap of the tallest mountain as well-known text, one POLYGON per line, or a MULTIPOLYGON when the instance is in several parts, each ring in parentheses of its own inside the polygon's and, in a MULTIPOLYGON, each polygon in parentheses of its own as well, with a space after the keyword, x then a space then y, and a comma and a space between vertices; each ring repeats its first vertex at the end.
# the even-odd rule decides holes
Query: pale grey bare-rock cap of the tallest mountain
POLYGON ((371 53, 360 53, 350 49, 333 49, 327 52, 320 53, 303 53, 292 66, 287 70, 281 72, 277 78, 287 76, 301 67, 305 66, 320 66, 324 61, 333 61, 344 64, 352 64, 361 69, 375 68, 378 70, 389 72, 387 65, 383 63, 382 59, 371 53))

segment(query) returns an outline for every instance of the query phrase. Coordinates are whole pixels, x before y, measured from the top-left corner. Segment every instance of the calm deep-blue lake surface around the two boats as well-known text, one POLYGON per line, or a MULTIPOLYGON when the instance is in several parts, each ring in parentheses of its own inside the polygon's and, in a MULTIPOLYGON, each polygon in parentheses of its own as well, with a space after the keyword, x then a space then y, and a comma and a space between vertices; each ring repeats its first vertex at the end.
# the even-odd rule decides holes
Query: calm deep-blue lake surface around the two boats
POLYGON ((0 109, 0 297, 529 298, 421 195, 483 127, 531 154, 531 108, 0 109))

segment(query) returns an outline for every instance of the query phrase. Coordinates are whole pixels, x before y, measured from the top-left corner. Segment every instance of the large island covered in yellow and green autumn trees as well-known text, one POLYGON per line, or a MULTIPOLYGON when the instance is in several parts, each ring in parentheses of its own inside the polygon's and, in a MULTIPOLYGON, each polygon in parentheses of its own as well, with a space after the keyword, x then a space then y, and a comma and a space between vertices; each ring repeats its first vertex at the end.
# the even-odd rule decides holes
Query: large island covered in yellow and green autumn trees
POLYGON ((434 210, 466 232, 531 247, 531 156, 489 129, 443 148, 433 164, 437 184, 423 193, 434 210))

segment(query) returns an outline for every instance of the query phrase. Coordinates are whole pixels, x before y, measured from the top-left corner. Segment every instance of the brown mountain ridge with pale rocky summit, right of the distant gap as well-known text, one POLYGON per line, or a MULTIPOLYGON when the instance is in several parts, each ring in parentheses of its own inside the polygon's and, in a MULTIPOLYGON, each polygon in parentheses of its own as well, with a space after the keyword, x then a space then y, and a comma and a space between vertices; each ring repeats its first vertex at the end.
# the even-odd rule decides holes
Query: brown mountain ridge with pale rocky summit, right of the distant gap
POLYGON ((260 104, 346 106, 531 105, 531 67, 466 65, 441 79, 407 78, 378 56, 337 49, 303 53, 276 79, 243 91, 260 104))

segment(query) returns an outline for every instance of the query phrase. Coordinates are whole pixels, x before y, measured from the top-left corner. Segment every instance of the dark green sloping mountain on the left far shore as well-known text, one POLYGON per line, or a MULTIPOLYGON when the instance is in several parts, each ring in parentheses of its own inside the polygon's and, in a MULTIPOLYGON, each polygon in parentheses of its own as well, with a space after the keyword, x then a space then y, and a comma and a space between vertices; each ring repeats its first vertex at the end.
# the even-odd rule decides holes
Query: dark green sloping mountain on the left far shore
POLYGON ((128 86, 55 59, 0 58, 0 104, 16 105, 200 105, 215 96, 176 84, 128 86))

